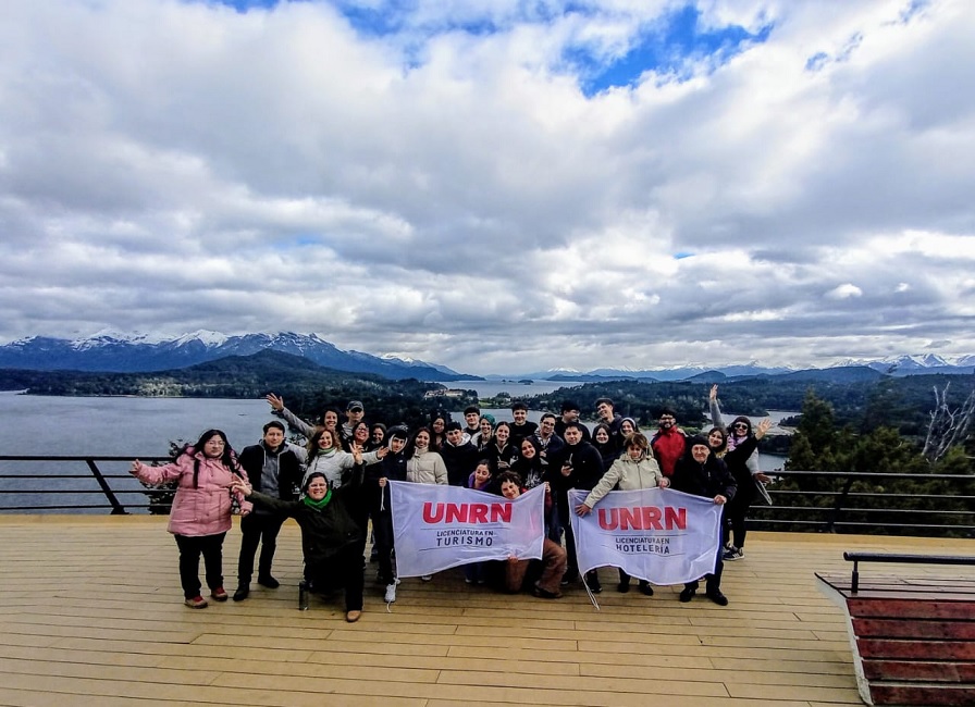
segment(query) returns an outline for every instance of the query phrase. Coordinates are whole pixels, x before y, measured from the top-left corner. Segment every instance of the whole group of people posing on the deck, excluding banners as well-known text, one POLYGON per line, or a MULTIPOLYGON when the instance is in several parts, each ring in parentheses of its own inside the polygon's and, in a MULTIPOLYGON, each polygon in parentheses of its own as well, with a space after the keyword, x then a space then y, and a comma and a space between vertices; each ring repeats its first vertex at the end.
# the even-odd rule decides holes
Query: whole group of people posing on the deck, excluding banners
MULTIPOLYGON (((725 606, 723 563, 743 557, 748 509, 767 481, 757 470, 756 446, 769 422, 765 420, 752 431, 748 418, 738 418, 726 427, 717 386, 709 396, 714 426, 706 435, 695 436, 679 427, 670 409, 661 412, 657 430, 647 436, 635 420, 615 413, 608 398, 596 400, 597 420, 592 430, 580 422, 579 406, 571 400, 563 404, 560 414, 543 413, 538 423, 527 419, 523 404, 516 402, 510 422, 495 421, 471 406, 464 411, 464 423, 437 413, 429 426, 407 430, 368 424, 359 400, 348 402, 344 420, 338 410, 330 409, 320 423, 309 424, 288 410, 281 397, 272 394, 267 399, 276 415, 307 438, 305 447, 288 443, 285 423, 273 420, 263 426, 260 443, 239 455, 223 432, 208 430, 172 463, 149 467, 133 462, 131 472, 145 483, 176 483, 169 531, 180 550, 181 583, 185 603, 192 608, 208 604, 199 580, 201 555, 210 598, 230 598, 224 590, 222 546, 234 512, 242 516, 235 601, 249 596, 256 558, 257 582, 269 588, 280 585, 271 570, 276 537, 287 518, 294 518, 301 530, 305 588, 344 587, 349 622, 357 621, 362 611, 371 520, 378 580, 385 586, 385 600, 395 601, 399 581, 393 562, 390 481, 467 486, 509 499, 544 485, 542 560, 533 563, 509 558, 507 562, 465 567, 469 583, 496 579, 507 591, 530 587, 543 598, 558 598, 561 586, 579 579, 570 513, 592 512, 617 488, 671 487, 706 497, 723 506, 726 530, 714 572, 705 578, 705 592, 725 606), (575 508, 569 506, 571 488, 589 492, 575 508)), ((429 575, 420 579, 432 580, 429 575)), ((602 591, 594 570, 582 581, 590 592, 602 591)), ((643 580, 639 587, 653 594, 643 580)), ((629 588, 630 578, 620 570, 617 590, 629 588)), ((698 588, 696 581, 688 583, 680 600, 690 601, 698 588)))

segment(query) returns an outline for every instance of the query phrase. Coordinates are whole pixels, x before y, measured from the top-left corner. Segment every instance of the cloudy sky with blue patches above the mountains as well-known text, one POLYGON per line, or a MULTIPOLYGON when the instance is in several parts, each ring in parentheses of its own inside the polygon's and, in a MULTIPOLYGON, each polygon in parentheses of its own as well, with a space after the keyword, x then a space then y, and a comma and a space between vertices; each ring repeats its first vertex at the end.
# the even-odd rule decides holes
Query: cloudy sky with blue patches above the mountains
POLYGON ((975 354, 970 0, 7 0, 0 344, 975 354))

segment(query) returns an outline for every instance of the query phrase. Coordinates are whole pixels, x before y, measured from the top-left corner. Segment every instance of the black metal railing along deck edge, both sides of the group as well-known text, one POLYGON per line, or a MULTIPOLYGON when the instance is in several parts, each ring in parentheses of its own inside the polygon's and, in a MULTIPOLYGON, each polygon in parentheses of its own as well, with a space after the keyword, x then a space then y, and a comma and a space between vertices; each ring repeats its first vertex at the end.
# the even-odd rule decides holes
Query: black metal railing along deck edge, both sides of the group
MULTIPOLYGON (((0 456, 0 512, 168 512, 172 492, 134 479, 134 458, 170 461, 0 456)), ((773 505, 752 506, 751 529, 975 537, 975 475, 776 471, 774 477, 773 505)))

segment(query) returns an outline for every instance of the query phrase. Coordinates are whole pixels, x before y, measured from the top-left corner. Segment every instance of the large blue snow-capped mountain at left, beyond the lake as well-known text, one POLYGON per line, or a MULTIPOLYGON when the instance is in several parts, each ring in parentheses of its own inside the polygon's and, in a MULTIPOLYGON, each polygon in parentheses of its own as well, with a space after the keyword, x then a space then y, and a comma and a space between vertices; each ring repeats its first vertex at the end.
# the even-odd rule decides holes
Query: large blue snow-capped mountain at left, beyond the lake
POLYGON ((39 371, 77 370, 119 373, 181 369, 227 356, 250 356, 272 349, 301 356, 319 365, 350 373, 378 373, 388 379, 453 381, 461 375, 423 361, 380 358, 361 351, 343 351, 317 334, 245 334, 226 336, 198 331, 176 338, 150 342, 146 335, 98 333, 74 340, 32 336, 0 346, 0 368, 39 371))

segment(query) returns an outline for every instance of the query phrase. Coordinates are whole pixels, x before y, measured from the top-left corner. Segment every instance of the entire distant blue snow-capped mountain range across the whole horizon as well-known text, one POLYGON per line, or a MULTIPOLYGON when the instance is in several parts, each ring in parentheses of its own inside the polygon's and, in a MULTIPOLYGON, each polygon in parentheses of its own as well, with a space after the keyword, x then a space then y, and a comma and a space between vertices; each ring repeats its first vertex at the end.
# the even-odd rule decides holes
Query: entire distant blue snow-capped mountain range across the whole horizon
MULTIPOLYGON (((181 369, 229 356, 250 356, 275 350, 309 359, 319 365, 350 373, 374 373, 392 380, 478 381, 482 376, 458 373, 445 365, 361 351, 344 351, 317 334, 245 334, 226 336, 199 331, 170 339, 151 339, 145 335, 103 333, 88 338, 64 339, 32 336, 0 346, 0 368, 33 371, 106 371, 135 373, 181 369)), ((847 360, 828 369, 805 371, 839 372, 866 369, 885 375, 905 376, 924 373, 964 374, 975 370, 975 356, 947 360, 938 356, 900 356, 875 360, 847 360)), ((550 369, 532 373, 505 375, 505 379, 531 379, 565 382, 607 380, 686 381, 689 379, 721 381, 754 376, 795 375, 802 373, 785 367, 765 367, 757 362, 741 365, 705 368, 701 365, 669 369, 601 368, 588 372, 550 369)), ((818 375, 818 374, 817 374, 818 375)), ((503 376, 486 376, 489 380, 503 376)))

